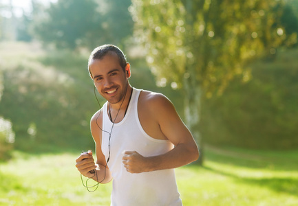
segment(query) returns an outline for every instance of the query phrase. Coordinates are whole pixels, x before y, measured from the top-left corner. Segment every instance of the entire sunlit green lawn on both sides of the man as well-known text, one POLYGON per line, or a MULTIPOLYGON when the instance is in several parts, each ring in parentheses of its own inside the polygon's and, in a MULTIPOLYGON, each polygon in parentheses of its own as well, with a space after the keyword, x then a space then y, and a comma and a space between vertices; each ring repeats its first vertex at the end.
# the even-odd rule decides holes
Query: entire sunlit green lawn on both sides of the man
MULTIPOLYGON (((0 163, 0 205, 109 205, 111 183, 87 192, 76 156, 14 152, 0 163)), ((176 170, 184 205, 298 205, 298 150, 206 147, 204 157, 176 170)))

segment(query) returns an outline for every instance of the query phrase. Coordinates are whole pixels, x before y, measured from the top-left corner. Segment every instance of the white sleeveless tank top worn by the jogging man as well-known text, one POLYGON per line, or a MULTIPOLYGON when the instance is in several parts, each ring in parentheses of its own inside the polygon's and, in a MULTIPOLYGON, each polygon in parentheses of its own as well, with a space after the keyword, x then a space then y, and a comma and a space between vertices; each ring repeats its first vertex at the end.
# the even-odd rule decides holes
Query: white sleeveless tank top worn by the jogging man
MULTIPOLYGON (((131 101, 123 120, 114 124, 110 139, 109 170, 113 176, 112 206, 178 206, 182 205, 175 181, 175 172, 158 170, 131 174, 124 168, 125 151, 136 151, 145 157, 162 155, 173 149, 168 140, 153 139, 143 130, 138 118, 138 89, 133 89, 131 101)), ((111 131, 107 102, 103 106, 103 130, 111 131)), ((101 149, 105 159, 109 156, 109 134, 102 133, 101 149)))

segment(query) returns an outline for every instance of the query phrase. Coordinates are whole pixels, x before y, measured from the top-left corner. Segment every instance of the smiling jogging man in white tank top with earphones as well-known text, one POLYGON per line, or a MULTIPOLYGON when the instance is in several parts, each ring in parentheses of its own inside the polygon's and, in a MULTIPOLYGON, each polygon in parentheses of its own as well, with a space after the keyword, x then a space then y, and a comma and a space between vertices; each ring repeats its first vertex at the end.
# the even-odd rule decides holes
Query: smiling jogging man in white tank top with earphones
POLYGON ((78 171, 98 183, 113 179, 113 206, 182 205, 173 169, 195 161, 199 152, 173 104, 160 93, 131 87, 130 65, 114 45, 94 49, 88 68, 107 102, 91 119, 96 163, 89 150, 76 159, 78 171))

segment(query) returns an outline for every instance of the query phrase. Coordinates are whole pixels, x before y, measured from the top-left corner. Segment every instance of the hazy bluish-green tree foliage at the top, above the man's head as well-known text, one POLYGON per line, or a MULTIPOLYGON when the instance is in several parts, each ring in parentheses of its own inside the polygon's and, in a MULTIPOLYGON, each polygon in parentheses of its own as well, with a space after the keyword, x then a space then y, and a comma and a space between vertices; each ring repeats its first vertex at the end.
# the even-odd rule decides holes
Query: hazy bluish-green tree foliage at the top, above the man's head
POLYGON ((103 43, 122 44, 132 34, 127 8, 131 1, 60 0, 51 3, 45 18, 36 21, 34 32, 45 43, 74 49, 103 43))

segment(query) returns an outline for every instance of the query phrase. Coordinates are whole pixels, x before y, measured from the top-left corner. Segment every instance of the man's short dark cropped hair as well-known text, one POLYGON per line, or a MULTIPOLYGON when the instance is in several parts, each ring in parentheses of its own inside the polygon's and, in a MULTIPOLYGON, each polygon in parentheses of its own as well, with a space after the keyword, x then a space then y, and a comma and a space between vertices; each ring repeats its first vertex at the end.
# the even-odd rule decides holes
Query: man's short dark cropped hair
MULTIPOLYGON (((88 60, 88 70, 89 70, 89 64, 91 60, 94 59, 103 59, 107 54, 110 52, 114 52, 118 56, 119 64, 122 67, 123 71, 125 71, 125 67, 127 65, 127 60, 125 58, 125 55, 115 45, 101 45, 99 47, 96 47, 90 54, 89 60, 88 60)), ((89 70, 90 73, 90 70, 89 70)), ((91 73, 90 73, 91 75, 91 73)))

